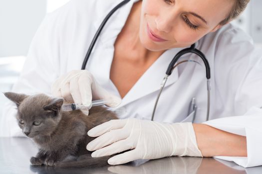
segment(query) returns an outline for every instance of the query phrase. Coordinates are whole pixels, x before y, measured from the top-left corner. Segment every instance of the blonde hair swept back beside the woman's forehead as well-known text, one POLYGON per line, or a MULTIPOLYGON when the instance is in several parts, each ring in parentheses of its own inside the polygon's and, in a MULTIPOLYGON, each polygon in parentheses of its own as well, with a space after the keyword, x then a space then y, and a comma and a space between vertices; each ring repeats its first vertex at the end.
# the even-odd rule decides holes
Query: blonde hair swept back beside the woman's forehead
POLYGON ((226 23, 237 18, 245 10, 249 2, 250 0, 235 0, 235 4, 233 5, 229 15, 226 17, 226 19, 222 20, 220 24, 225 25, 226 23))

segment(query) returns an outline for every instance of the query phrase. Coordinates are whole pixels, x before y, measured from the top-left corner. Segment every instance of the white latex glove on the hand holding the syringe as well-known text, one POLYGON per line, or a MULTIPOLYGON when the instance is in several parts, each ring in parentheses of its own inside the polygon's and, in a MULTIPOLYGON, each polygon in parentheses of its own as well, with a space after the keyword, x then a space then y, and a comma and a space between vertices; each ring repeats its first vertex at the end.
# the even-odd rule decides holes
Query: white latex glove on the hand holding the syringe
MULTIPOLYGON (((109 93, 95 81, 87 70, 74 70, 58 78, 51 87, 52 95, 63 97, 66 102, 75 102, 91 108, 91 102, 97 99, 106 99, 106 104, 115 107, 121 103, 121 98, 109 93)), ((88 115, 88 109, 82 109, 88 115)))

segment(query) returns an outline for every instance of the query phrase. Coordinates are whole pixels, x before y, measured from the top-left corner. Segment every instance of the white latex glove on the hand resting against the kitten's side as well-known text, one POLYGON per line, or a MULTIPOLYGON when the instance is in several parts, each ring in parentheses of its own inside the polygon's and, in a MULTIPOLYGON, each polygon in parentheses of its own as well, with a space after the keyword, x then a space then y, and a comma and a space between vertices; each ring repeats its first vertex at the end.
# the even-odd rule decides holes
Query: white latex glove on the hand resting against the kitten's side
POLYGON ((92 157, 109 156, 126 150, 108 160, 119 165, 137 159, 158 159, 169 156, 202 157, 192 123, 158 123, 135 118, 110 120, 87 133, 97 137, 87 145, 95 151, 92 157))

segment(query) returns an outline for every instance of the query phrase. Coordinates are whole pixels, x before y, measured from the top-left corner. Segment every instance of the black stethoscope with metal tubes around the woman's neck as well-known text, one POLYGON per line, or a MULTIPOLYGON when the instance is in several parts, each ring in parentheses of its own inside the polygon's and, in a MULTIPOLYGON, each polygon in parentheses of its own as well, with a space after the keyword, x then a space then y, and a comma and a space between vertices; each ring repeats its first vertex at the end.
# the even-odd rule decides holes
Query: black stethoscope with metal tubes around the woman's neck
MULTIPOLYGON (((85 70, 85 67, 86 67, 86 64, 87 64, 87 61, 90 57, 90 54, 93 50, 93 47, 96 43, 96 40, 98 39, 103 27, 105 26, 106 22, 108 21, 108 19, 111 17, 111 15, 117 10, 119 9, 121 6, 123 6, 124 4, 126 4, 127 2, 129 2, 130 0, 123 0, 122 2, 120 2, 118 5, 116 5, 107 15, 106 17, 104 18, 104 20, 102 21, 101 25, 99 26, 99 28, 97 29, 96 33, 95 33, 95 36, 88 48, 88 51, 86 53, 86 56, 85 56, 85 59, 83 61, 83 64, 82 64, 82 68, 81 70, 85 70)), ((177 63, 177 61, 185 54, 187 53, 194 53, 196 55, 198 55, 202 61, 204 62, 205 64, 205 68, 206 68, 206 78, 207 78, 207 91, 208 91, 208 102, 207 102, 207 117, 206 117, 206 120, 209 120, 209 110, 210 110, 210 66, 209 66, 209 63, 208 63, 208 60, 206 59, 205 55, 199 51, 198 49, 195 48, 195 44, 191 45, 190 48, 186 48, 186 49, 183 49, 181 50, 180 52, 178 52, 175 57, 172 59, 172 61, 170 62, 168 68, 167 68, 167 71, 166 71, 166 75, 160 85, 160 91, 159 91, 159 94, 157 96, 157 99, 156 99, 156 102, 155 102, 155 105, 154 105, 154 110, 153 110, 153 113, 152 113, 152 117, 151 117, 151 120, 153 121, 154 120, 154 115, 155 115, 155 111, 156 111, 156 107, 157 107, 157 103, 158 103, 158 100, 159 100, 159 97, 163 91, 163 88, 165 87, 165 84, 167 82, 167 79, 168 77, 172 74, 174 68, 176 68, 178 65, 182 64, 182 63, 185 63, 185 62, 195 62, 197 64, 199 64, 198 62, 194 61, 194 60, 185 60, 185 61, 181 61, 179 63, 177 63), (177 64, 176 64, 177 63, 177 64)))

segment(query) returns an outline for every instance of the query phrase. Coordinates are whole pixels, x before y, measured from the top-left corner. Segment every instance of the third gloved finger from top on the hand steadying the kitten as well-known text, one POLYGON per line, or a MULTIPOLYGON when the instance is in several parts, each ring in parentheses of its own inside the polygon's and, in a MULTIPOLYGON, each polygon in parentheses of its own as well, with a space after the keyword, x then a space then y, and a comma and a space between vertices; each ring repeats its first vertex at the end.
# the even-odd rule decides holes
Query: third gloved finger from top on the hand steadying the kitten
POLYGON ((91 154, 92 157, 103 157, 117 154, 126 150, 134 149, 135 145, 132 142, 128 142, 127 139, 117 141, 102 149, 98 149, 91 154))

